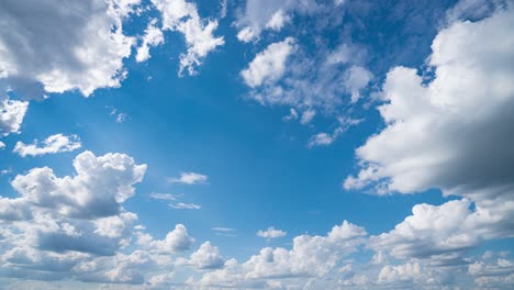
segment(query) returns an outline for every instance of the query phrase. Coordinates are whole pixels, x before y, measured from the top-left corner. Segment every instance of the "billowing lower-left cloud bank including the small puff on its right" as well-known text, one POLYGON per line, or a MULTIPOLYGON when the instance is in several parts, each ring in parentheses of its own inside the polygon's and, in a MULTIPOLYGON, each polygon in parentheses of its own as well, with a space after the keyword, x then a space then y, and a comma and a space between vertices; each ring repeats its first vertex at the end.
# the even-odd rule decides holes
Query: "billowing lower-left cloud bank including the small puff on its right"
POLYGON ((193 242, 187 228, 179 224, 154 239, 122 205, 146 165, 124 154, 85 152, 74 167, 76 174, 63 178, 48 167, 31 169, 11 182, 20 197, 0 198, 0 275, 143 283, 150 270, 171 270, 169 254, 193 242), (128 245, 135 249, 124 253, 128 245))

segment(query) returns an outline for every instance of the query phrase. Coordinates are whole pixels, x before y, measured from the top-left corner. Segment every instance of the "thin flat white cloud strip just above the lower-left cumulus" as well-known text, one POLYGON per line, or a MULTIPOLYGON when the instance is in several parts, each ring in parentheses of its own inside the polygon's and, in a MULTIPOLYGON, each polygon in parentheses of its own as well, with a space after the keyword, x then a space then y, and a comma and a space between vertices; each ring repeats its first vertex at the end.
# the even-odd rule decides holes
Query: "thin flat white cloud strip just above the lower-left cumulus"
POLYGON ((72 152, 80 148, 82 145, 77 135, 63 135, 55 134, 45 138, 40 146, 40 143, 34 141, 33 144, 24 144, 19 141, 14 146, 15 153, 20 154, 22 157, 26 156, 37 156, 44 154, 55 154, 62 152, 72 152))

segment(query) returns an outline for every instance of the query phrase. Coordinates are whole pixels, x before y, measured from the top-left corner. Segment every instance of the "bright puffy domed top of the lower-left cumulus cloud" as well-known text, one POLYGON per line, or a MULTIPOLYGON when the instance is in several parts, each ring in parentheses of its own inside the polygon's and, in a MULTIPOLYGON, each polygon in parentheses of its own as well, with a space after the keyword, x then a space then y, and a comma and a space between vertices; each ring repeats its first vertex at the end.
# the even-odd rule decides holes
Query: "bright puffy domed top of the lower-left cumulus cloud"
POLYGON ((34 168, 12 181, 21 199, 42 208, 55 209, 59 214, 76 217, 118 214, 120 203, 134 194, 146 165, 136 165, 127 155, 110 153, 97 157, 91 152, 79 154, 74 160, 77 174, 58 178, 48 167, 34 168))

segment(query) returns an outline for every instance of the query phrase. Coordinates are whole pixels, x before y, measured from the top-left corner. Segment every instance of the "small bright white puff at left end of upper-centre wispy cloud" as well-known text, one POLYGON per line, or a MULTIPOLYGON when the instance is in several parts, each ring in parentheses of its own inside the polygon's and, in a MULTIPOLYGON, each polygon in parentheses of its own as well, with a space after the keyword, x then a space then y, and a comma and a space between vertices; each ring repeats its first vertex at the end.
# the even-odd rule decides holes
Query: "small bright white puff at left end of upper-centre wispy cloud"
POLYGON ((279 79, 283 75, 286 62, 293 51, 294 40, 291 37, 270 44, 265 51, 255 56, 247 69, 241 71, 246 85, 255 88, 266 81, 279 79))

